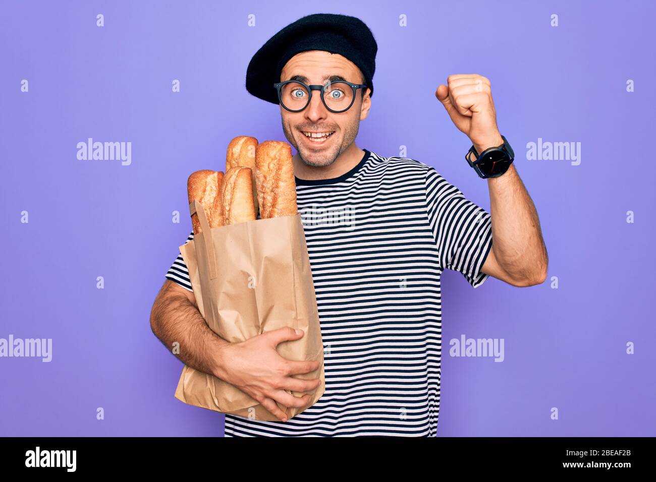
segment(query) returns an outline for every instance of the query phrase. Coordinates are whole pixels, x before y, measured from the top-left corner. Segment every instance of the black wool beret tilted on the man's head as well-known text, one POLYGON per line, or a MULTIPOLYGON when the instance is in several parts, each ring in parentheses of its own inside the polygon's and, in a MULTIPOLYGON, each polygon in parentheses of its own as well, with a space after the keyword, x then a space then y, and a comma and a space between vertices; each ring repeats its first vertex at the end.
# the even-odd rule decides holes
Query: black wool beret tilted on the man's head
MULTIPOLYGON (((373 95, 378 50, 373 33, 359 18, 331 13, 299 18, 268 39, 249 62, 246 90, 262 100, 278 104, 274 83, 280 82, 280 73, 287 61, 306 50, 326 50, 348 58, 362 71, 363 83, 373 95)), ((359 79, 347 80, 359 82, 359 79)))

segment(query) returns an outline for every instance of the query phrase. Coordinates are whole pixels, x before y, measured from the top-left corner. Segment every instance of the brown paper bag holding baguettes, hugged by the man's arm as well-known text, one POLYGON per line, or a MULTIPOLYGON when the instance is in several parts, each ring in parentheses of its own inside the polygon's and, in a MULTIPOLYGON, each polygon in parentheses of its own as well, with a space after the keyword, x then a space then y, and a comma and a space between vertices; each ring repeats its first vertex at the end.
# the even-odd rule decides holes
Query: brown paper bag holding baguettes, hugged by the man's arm
MULTIPOLYGON (((325 388, 321 327, 300 214, 210 229, 201 203, 192 201, 189 209, 197 212, 202 232, 180 252, 207 325, 231 343, 282 327, 300 328, 303 337, 279 344, 278 353, 290 360, 321 361, 316 371, 294 375, 321 380, 307 405, 278 403, 292 418, 314 405, 325 388)), ((296 397, 312 393, 287 392, 296 397)), ((186 365, 175 397, 204 409, 279 421, 235 386, 186 365)))

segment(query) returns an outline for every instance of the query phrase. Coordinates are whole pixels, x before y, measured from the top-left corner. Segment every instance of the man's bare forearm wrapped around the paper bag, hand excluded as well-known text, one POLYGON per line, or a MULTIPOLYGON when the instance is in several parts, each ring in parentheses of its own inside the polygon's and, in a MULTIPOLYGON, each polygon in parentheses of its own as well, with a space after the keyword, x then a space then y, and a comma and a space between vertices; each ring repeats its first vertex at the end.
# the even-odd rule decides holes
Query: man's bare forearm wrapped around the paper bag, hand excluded
POLYGON ((150 315, 152 330, 185 365, 223 378, 220 350, 230 343, 205 323, 188 298, 169 295, 155 301, 150 315), (178 350, 174 350, 174 343, 178 350))

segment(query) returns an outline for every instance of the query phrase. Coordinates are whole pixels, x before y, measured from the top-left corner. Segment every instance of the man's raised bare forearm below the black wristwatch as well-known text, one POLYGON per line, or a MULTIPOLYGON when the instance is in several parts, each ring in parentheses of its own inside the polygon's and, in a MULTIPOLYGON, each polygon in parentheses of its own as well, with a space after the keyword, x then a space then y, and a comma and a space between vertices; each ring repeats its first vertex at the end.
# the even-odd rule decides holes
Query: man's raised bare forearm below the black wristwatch
POLYGON ((487 178, 487 186, 497 262, 513 279, 541 283, 548 255, 537 210, 514 164, 501 176, 487 178))

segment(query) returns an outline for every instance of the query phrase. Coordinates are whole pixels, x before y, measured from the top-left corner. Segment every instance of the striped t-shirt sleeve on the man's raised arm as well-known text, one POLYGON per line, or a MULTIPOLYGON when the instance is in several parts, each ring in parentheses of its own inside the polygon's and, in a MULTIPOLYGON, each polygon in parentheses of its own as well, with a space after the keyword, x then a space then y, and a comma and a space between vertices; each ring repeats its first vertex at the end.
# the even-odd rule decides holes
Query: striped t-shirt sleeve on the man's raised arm
POLYGON ((459 271, 474 288, 482 285, 489 275, 480 269, 492 248, 489 212, 466 199, 430 166, 426 171, 426 209, 441 268, 459 271))

